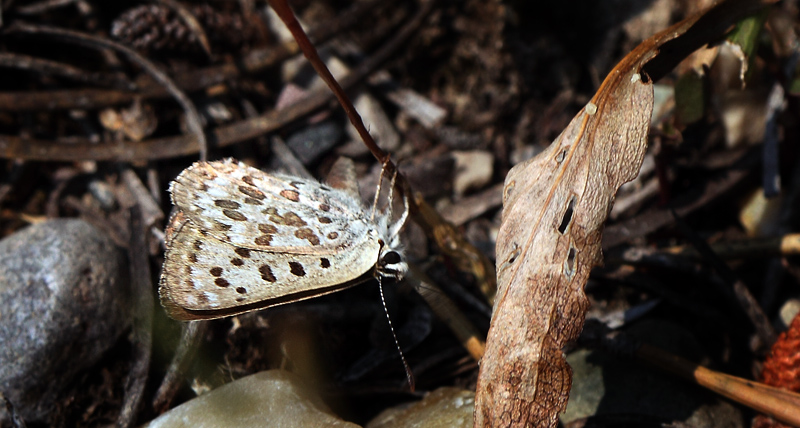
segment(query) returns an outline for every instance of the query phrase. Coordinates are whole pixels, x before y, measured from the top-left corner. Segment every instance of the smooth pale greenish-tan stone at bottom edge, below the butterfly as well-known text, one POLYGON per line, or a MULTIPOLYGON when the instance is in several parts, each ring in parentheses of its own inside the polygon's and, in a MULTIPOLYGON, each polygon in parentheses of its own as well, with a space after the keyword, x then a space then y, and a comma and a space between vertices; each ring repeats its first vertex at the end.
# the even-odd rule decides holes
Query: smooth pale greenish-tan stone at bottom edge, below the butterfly
POLYGON ((331 414, 319 397, 289 372, 256 373, 187 401, 145 428, 358 428, 331 414))

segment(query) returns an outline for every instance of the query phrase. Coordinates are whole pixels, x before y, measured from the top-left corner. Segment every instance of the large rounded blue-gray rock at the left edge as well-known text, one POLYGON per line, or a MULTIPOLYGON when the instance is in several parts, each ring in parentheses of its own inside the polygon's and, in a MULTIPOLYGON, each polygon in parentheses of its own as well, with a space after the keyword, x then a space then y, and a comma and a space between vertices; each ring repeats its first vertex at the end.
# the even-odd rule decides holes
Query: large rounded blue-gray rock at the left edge
MULTIPOLYGON (((75 375, 129 325, 120 251, 81 220, 51 220, 0 241, 0 392, 49 422, 75 375)), ((7 416, 0 411, 0 422, 7 416)))

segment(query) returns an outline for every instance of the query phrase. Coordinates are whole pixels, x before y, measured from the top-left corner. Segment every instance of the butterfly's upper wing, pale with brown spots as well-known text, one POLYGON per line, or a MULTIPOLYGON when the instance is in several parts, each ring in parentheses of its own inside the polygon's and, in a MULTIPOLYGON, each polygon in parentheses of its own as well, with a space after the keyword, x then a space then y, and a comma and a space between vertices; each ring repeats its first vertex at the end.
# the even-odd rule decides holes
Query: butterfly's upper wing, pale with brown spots
POLYGON ((252 250, 330 254, 360 245, 370 228, 360 201, 347 192, 233 160, 195 163, 170 192, 197 227, 252 250))

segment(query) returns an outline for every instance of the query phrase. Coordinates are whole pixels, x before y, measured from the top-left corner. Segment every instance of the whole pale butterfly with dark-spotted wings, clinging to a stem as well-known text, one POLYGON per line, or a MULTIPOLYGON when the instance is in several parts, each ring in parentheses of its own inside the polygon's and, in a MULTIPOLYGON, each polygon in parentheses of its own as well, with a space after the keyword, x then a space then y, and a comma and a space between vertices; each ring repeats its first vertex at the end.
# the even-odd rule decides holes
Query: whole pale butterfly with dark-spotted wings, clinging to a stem
POLYGON ((310 299, 373 277, 399 281, 408 270, 399 239, 405 199, 391 223, 377 194, 369 212, 357 191, 232 159, 196 162, 170 194, 159 295, 177 320, 310 299))

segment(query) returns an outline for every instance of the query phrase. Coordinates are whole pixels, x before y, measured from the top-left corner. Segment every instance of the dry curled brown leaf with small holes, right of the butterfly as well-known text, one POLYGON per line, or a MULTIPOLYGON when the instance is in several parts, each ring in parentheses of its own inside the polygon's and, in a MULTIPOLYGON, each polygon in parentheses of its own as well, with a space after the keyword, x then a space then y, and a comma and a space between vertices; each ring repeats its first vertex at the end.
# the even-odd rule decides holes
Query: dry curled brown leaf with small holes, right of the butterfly
POLYGON ((729 1, 640 44, 547 150, 508 173, 497 237, 498 294, 474 426, 556 425, 572 383, 562 348, 583 327, 583 287, 601 262, 614 195, 636 176, 647 148, 653 88, 642 67, 663 48, 665 55, 648 65, 663 75, 676 58, 708 41, 701 39, 722 34, 725 22, 743 11, 731 6, 744 3, 759 2, 729 1), (670 41, 678 43, 665 46, 670 41))

